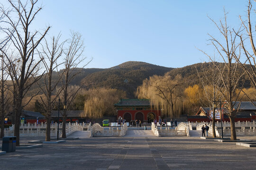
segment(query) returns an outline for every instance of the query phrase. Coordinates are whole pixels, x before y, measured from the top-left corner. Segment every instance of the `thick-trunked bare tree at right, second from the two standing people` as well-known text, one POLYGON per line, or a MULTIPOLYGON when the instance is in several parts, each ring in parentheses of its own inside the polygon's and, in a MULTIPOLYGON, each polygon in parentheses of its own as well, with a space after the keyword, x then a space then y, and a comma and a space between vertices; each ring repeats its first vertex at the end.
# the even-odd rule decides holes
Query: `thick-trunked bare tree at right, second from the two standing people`
MULTIPOLYGON (((241 56, 241 43, 237 41, 237 34, 232 29, 229 29, 227 25, 227 13, 225 9, 224 20, 220 20, 219 25, 213 19, 210 18, 210 20, 215 24, 223 38, 218 40, 209 34, 210 42, 224 63, 217 64, 209 54, 205 52, 204 53, 209 57, 214 66, 217 68, 220 83, 217 85, 216 81, 216 87, 219 93, 221 93, 221 98, 228 103, 227 110, 230 120, 231 140, 236 140, 237 136, 235 128, 235 117, 239 107, 234 110, 234 104, 238 101, 238 98, 235 97, 235 91, 236 89, 240 89, 239 81, 244 75, 241 71, 238 70, 238 62, 236 61, 236 58, 240 59, 241 56)), ((240 92, 241 91, 238 93, 240 92)))

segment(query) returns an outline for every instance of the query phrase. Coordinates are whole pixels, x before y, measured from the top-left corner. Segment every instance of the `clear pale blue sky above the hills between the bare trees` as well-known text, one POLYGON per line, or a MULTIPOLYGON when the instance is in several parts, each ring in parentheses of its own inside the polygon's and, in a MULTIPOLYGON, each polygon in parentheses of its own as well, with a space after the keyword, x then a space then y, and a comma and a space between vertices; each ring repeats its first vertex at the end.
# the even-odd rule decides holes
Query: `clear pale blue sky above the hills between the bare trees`
POLYGON ((247 0, 39 0, 44 8, 35 28, 52 26, 49 35, 78 31, 93 58, 87 68, 110 68, 126 61, 144 61, 179 68, 208 61, 197 48, 212 51, 209 34, 229 12, 230 26, 246 15, 247 0))

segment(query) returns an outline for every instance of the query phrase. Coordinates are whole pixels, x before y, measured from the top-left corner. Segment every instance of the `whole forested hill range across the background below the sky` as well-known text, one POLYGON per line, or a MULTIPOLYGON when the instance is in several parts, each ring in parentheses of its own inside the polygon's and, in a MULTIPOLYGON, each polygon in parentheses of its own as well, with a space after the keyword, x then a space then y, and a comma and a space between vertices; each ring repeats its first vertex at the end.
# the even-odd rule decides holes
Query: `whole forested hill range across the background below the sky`
MULTIPOLYGON (((80 70, 81 68, 76 69, 80 70)), ((86 89, 96 87, 116 88, 126 91, 128 98, 135 98, 134 92, 137 87, 142 85, 143 80, 150 76, 164 76, 166 73, 174 78, 176 75, 181 75, 183 88, 186 88, 189 85, 200 85, 201 82, 196 70, 200 75, 203 75, 203 70, 207 69, 209 69, 209 63, 197 63, 183 68, 166 68, 146 62, 128 61, 112 68, 82 68, 81 74, 73 79, 71 85, 83 84, 86 89)), ((53 81, 57 79, 58 75, 55 72, 53 81)), ((42 84, 43 79, 38 83, 42 84)), ((245 81, 244 87, 250 87, 249 80, 245 81)), ((39 88, 34 85, 28 95, 33 95, 38 90, 39 88)))

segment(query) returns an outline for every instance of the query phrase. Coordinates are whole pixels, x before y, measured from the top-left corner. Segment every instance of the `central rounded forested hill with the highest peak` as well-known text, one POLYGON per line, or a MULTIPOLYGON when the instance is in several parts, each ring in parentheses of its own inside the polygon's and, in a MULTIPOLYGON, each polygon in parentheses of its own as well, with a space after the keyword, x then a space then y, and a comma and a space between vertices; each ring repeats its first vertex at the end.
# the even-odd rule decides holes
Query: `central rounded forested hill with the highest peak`
POLYGON ((128 61, 118 66, 94 72, 82 79, 86 88, 110 87, 124 90, 128 98, 134 98, 137 86, 153 75, 163 76, 174 68, 166 68, 146 62, 128 61))

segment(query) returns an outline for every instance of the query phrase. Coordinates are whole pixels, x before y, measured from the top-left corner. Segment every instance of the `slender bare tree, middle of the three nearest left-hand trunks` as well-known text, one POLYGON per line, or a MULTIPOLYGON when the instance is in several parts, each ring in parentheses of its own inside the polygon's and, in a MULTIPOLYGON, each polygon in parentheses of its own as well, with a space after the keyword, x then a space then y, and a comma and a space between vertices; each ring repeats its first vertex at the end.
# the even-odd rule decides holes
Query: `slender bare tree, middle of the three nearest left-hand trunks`
POLYGON ((55 79, 55 81, 52 81, 53 71, 57 70, 57 68, 63 64, 59 62, 63 53, 64 45, 64 42, 59 43, 60 37, 60 34, 58 34, 57 37, 54 36, 51 42, 48 42, 45 39, 45 44, 42 45, 42 52, 38 52, 46 70, 43 85, 37 83, 46 98, 45 100, 40 96, 42 102, 41 106, 43 107, 42 110, 44 110, 44 114, 46 116, 46 141, 50 141, 51 139, 51 112, 59 94, 63 90, 63 88, 56 88, 61 81, 62 75, 55 79), (54 92, 55 95, 53 95, 54 92))

